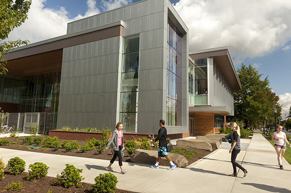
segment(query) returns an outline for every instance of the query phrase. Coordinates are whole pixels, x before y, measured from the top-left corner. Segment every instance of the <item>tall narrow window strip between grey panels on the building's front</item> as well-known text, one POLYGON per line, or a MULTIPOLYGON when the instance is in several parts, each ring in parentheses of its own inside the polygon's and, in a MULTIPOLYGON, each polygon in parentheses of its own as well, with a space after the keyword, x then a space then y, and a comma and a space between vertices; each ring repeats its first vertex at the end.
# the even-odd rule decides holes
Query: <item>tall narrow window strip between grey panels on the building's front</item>
POLYGON ((136 132, 139 35, 123 39, 120 122, 124 132, 136 132))

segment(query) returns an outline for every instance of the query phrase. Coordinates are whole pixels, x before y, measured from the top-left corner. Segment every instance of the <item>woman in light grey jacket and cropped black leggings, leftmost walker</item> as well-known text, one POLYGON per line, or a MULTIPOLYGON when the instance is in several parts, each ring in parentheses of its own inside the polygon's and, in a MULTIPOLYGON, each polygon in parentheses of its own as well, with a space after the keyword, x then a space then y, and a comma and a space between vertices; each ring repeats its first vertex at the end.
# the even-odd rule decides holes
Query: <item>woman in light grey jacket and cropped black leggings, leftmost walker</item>
POLYGON ((106 150, 108 150, 110 144, 112 143, 112 148, 114 150, 114 155, 113 155, 112 159, 110 160, 110 164, 106 168, 106 170, 113 172, 111 166, 112 166, 113 162, 115 161, 116 157, 118 156, 118 163, 119 163, 119 167, 121 169, 121 174, 125 174, 125 173, 127 173, 127 171, 124 170, 122 167, 122 156, 121 156, 121 151, 120 151, 120 150, 123 150, 123 132, 121 131, 123 128, 122 123, 118 122, 116 124, 115 128, 116 128, 116 130, 112 132, 112 137, 106 146, 106 150))

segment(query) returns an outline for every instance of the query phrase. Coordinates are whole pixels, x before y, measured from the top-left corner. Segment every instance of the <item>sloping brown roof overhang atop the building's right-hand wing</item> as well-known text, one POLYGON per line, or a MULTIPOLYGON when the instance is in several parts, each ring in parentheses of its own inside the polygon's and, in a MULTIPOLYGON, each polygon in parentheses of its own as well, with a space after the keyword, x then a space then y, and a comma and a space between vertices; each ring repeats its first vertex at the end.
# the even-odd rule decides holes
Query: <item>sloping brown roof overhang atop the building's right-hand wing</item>
POLYGON ((242 89, 242 85, 230 57, 228 47, 189 52, 189 57, 193 60, 199 58, 213 58, 213 62, 216 63, 216 67, 219 68, 219 71, 225 77, 232 90, 238 91, 242 89))

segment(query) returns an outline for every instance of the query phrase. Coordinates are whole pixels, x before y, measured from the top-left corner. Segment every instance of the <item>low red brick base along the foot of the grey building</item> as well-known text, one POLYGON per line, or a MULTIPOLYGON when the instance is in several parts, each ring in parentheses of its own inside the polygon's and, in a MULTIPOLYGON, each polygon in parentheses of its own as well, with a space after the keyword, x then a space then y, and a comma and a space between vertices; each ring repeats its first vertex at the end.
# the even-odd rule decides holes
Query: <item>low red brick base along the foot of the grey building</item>
MULTIPOLYGON (((99 139, 102 140, 102 134, 96 132, 75 132, 75 131, 60 131, 60 130, 49 130, 48 136, 54 137, 57 136, 59 139, 67 140, 87 140, 87 139, 99 139)), ((169 134, 170 139, 178 139, 190 136, 190 133, 181 133, 181 134, 169 134)), ((133 134, 133 133, 123 133, 124 140, 134 140, 136 138, 154 138, 157 135, 154 134, 133 134)))

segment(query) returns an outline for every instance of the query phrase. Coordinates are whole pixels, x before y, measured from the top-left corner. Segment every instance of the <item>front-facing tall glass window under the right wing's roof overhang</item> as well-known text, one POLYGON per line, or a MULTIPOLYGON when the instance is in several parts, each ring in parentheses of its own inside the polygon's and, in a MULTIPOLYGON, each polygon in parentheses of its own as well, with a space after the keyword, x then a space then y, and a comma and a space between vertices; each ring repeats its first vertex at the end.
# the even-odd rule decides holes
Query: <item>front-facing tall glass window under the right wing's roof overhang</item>
POLYGON ((207 58, 194 60, 195 105, 207 105, 207 58))

